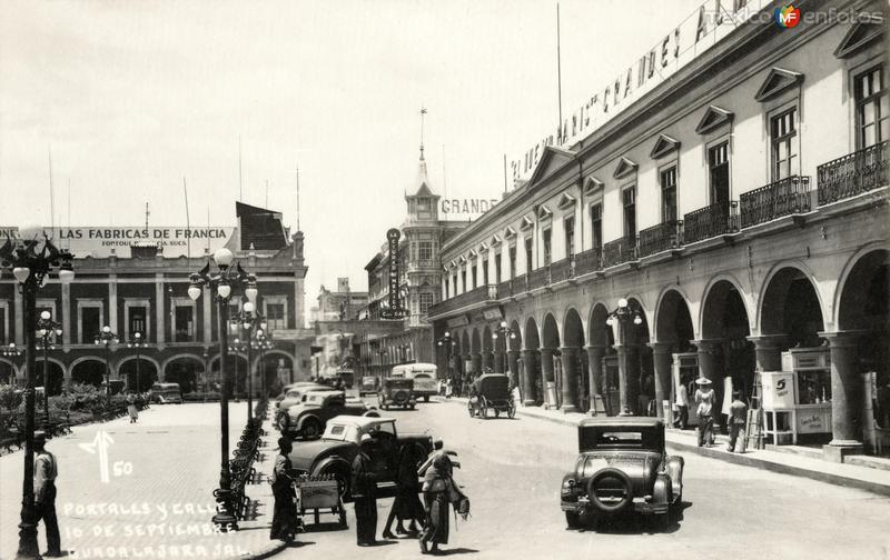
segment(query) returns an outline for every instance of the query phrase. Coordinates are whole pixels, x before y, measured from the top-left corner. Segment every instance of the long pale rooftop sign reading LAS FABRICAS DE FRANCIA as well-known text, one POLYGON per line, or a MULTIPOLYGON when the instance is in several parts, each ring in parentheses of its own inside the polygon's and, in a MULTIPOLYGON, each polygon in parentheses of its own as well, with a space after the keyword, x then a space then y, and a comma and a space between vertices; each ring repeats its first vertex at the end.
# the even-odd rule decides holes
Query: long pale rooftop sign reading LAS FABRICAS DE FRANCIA
MULTIPOLYGON (((160 246, 165 257, 179 257, 187 254, 189 246, 192 257, 204 254, 205 248, 214 253, 225 247, 235 233, 233 227, 185 228, 176 227, 70 227, 43 228, 51 236, 53 242, 62 248, 70 249, 75 257, 82 259, 108 258, 111 250, 121 258, 130 257, 131 246, 160 246)), ((17 238, 18 228, 0 227, 0 243, 7 237, 17 238)))

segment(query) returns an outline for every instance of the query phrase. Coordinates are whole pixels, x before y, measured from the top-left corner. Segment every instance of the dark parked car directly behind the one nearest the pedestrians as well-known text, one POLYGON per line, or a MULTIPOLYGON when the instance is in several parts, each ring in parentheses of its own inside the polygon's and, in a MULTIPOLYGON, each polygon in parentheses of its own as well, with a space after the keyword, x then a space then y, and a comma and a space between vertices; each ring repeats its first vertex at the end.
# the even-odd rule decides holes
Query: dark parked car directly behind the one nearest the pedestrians
POLYGON ((370 409, 363 400, 347 399, 343 391, 312 391, 304 394, 301 402, 294 404, 278 416, 277 426, 281 433, 290 437, 313 439, 325 431, 327 421, 336 416, 362 416, 370 409))

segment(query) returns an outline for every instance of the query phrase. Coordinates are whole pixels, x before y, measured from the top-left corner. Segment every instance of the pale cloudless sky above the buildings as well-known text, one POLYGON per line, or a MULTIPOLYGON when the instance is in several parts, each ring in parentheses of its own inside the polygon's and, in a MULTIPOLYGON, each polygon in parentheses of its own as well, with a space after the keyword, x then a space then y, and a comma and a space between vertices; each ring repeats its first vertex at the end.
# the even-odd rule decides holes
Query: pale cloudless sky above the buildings
MULTIPOLYGON (((564 113, 701 1, 561 1, 564 113)), ((500 198, 504 154, 556 127, 556 61, 551 0, 3 0, 0 226, 50 222, 50 154, 63 226, 139 226, 146 201, 185 226, 185 180, 192 224, 235 226, 240 198, 296 229, 299 168, 312 306, 367 288, 421 108, 433 190, 500 198)))

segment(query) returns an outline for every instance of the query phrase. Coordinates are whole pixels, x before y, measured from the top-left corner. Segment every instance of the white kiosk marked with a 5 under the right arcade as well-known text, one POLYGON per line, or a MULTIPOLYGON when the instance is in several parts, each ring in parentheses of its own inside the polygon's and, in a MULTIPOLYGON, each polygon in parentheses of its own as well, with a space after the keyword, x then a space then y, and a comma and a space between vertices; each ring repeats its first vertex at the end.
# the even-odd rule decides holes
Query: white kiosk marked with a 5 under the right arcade
POLYGON ((831 362, 827 348, 782 352, 782 371, 761 372, 763 434, 797 444, 799 434, 831 433, 831 362))

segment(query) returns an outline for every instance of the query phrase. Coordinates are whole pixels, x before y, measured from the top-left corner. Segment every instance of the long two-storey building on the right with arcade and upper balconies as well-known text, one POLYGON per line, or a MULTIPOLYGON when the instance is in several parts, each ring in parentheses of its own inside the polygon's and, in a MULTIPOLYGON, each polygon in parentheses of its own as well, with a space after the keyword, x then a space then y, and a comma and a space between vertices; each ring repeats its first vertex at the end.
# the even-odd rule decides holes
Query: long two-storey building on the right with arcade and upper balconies
POLYGON ((698 374, 719 404, 762 397, 755 372, 809 349, 827 457, 861 449, 861 374, 888 376, 887 12, 800 8, 883 20, 753 19, 547 147, 442 247, 439 366, 508 371, 532 406, 663 416, 698 374))

